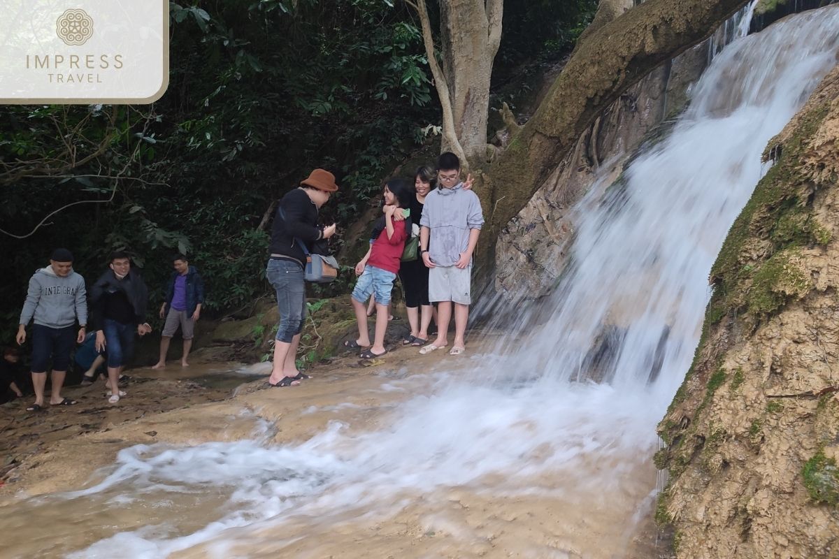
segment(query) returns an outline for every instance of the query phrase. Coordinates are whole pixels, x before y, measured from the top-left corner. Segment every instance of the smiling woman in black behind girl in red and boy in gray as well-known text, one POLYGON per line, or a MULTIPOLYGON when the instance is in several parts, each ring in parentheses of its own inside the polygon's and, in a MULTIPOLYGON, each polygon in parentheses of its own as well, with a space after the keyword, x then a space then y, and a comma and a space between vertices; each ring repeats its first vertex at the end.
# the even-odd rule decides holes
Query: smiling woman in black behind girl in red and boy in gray
MULTIPOLYGON (((416 195, 411 199, 411 222, 420 225, 425 195, 430 193, 437 182, 437 172, 430 165, 417 169, 414 173, 416 195)), ((420 347, 428 341, 428 327, 434 308, 428 300, 428 268, 421 258, 402 262, 399 267, 399 279, 405 292, 405 308, 411 333, 403 340, 405 345, 420 347)))

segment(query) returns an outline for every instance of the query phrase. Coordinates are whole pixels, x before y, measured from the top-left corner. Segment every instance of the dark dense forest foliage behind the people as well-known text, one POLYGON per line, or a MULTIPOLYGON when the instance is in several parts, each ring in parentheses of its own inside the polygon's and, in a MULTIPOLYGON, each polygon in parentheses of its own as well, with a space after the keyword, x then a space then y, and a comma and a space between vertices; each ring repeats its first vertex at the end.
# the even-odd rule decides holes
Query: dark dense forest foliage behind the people
MULTIPOLYGON (((596 5, 508 0, 499 91, 559 59, 596 5)), ((310 168, 336 173, 326 219, 346 225, 389 169, 435 140, 439 106, 400 0, 170 3, 169 16, 169 90, 154 105, 0 107, 4 341, 55 246, 88 282, 108 252, 128 250, 154 301, 170 254, 185 251, 210 311, 240 308, 266 288, 272 203, 310 168)))

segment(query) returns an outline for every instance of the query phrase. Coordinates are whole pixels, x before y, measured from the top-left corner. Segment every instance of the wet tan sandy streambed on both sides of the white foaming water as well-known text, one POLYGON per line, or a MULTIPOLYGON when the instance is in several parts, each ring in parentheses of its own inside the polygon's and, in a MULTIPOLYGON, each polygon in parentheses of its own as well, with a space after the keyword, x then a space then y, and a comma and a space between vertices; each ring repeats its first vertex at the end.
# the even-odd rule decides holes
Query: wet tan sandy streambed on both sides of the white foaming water
MULTIPOLYGON (((149 491, 116 512, 108 504, 118 492, 50 499, 50 494, 100 482, 123 448, 249 438, 300 443, 336 420, 352 430, 375 431, 385 427, 389 411, 412 391, 433 390, 436 368, 456 374, 467 365, 474 363, 443 352, 420 358, 415 349, 398 349, 372 363, 344 357, 319 365, 310 371, 314 378, 301 386, 263 389, 264 380, 254 380, 227 399, 227 386, 206 387, 185 377, 211 376, 206 369, 225 377, 233 365, 187 371, 170 367, 166 374, 137 370, 126 389, 130 396, 119 406, 107 404, 99 385, 68 391, 68 396, 85 397, 78 406, 40 417, 3 409, 5 421, 17 416, 12 417, 14 434, 3 440, 16 440, 7 452, 20 462, 0 488, 0 510, 8 513, 0 515, 6 519, 0 520, 0 532, 8 535, 4 556, 65 556, 145 525, 167 525, 187 534, 216 520, 229 496, 217 488, 176 499, 149 491), (53 427, 44 437, 41 433, 50 426, 61 428, 53 427), (34 495, 48 499, 42 502, 34 495), (44 531, 44 525, 52 529, 44 531)), ((659 535, 649 520, 655 468, 643 455, 619 462, 592 459, 579 471, 525 477, 513 484, 489 476, 431 493, 407 490, 382 499, 375 510, 290 515, 279 526, 258 522, 168 556, 665 557, 667 546, 656 545, 659 535), (620 482, 597 484, 602 468, 606 479, 618 475, 620 482)))

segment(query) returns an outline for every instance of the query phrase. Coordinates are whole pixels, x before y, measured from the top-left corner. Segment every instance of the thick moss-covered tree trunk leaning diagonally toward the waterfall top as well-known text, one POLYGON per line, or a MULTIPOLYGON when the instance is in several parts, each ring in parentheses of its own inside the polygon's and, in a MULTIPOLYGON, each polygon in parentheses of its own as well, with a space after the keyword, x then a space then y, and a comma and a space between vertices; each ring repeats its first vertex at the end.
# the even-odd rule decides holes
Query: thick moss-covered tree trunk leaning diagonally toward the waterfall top
POLYGON ((587 34, 477 188, 487 219, 478 265, 491 266, 498 233, 603 110, 651 70, 706 39, 746 2, 647 0, 587 34))

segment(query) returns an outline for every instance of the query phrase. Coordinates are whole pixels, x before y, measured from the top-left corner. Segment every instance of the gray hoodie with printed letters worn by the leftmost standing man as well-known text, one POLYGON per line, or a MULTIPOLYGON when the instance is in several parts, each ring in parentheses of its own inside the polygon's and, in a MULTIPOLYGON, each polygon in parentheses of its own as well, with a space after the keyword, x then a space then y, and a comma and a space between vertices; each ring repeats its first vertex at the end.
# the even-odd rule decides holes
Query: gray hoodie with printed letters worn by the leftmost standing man
POLYGON ((60 277, 51 266, 41 268, 29 280, 26 303, 20 313, 20 324, 36 324, 50 328, 66 328, 87 323, 85 279, 76 272, 60 277))

